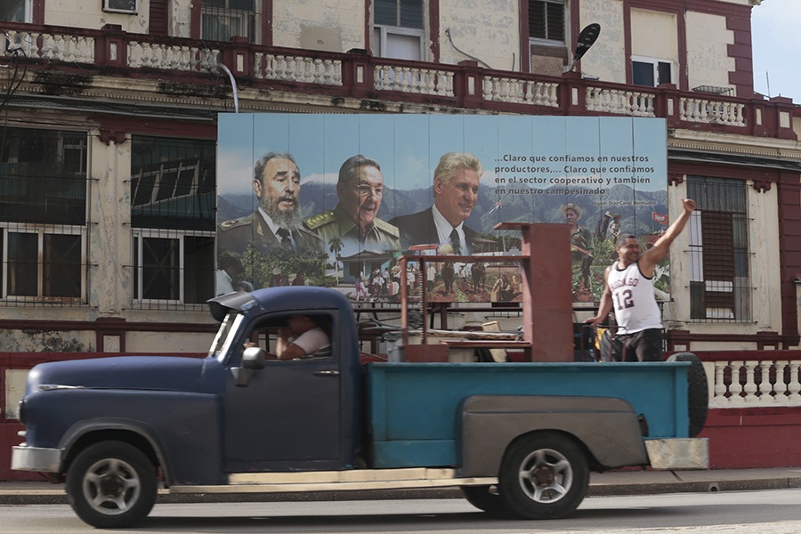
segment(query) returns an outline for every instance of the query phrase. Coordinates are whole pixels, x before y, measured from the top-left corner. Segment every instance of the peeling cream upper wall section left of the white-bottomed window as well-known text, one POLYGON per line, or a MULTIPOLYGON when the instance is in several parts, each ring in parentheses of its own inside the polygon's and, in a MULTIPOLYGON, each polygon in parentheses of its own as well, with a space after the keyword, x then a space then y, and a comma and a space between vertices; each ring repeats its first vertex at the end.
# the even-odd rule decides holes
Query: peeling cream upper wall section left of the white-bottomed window
POLYGON ((276 46, 347 52, 364 48, 364 2, 294 0, 273 7, 272 40, 276 46))

